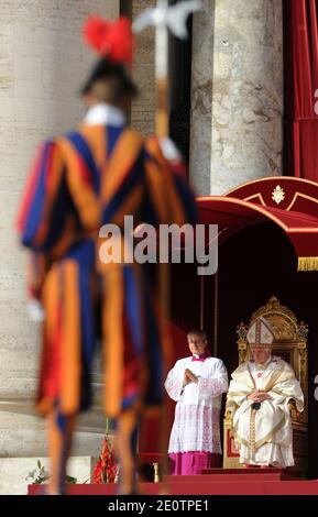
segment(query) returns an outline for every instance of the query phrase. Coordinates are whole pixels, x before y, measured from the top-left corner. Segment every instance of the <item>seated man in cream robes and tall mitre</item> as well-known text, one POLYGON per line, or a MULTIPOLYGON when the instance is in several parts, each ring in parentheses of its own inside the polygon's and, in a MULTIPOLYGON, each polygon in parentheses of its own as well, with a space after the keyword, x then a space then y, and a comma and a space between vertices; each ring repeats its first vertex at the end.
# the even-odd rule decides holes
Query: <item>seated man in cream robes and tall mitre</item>
POLYGON ((293 466, 293 430, 288 408, 295 400, 304 409, 304 395, 292 366, 272 355, 274 332, 257 318, 246 334, 251 360, 232 373, 227 409, 233 415, 232 432, 245 466, 293 466))

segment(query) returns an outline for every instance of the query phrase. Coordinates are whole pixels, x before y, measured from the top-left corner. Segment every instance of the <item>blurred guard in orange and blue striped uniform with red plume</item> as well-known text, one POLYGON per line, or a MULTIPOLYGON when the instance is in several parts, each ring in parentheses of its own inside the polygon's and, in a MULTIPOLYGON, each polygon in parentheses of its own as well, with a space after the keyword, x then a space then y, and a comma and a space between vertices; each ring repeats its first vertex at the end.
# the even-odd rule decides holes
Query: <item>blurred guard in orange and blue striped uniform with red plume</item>
POLYGON ((100 341, 105 411, 116 420, 119 491, 132 494, 132 438, 145 409, 162 405, 168 350, 158 293, 151 292, 144 266, 122 260, 131 255, 122 230, 127 216, 133 229, 144 222, 193 223, 195 204, 160 140, 145 140, 128 127, 138 94, 130 75, 130 21, 90 18, 84 35, 99 54, 81 90, 87 114, 76 131, 41 145, 18 228, 30 250, 31 308, 43 327, 37 410, 48 422, 47 493, 65 492, 72 436, 77 414, 91 403, 91 362, 100 341), (111 246, 102 229, 114 226, 120 257, 107 261, 103 252, 111 246))

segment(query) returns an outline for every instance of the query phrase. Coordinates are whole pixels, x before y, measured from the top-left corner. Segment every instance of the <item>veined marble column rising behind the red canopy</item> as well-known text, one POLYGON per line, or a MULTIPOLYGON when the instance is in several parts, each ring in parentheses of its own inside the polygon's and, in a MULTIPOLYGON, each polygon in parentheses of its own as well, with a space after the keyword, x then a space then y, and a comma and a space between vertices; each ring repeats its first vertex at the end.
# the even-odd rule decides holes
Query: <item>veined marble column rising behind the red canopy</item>
POLYGON ((204 0, 194 16, 190 174, 200 195, 282 174, 282 0, 204 0))

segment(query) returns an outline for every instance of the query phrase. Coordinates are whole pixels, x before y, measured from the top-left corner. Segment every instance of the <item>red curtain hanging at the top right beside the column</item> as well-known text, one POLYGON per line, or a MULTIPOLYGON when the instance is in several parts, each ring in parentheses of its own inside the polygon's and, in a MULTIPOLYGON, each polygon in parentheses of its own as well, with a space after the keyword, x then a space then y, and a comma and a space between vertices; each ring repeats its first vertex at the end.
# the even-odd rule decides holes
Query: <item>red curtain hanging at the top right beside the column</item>
POLYGON ((284 173, 318 182, 318 0, 283 0, 284 173))

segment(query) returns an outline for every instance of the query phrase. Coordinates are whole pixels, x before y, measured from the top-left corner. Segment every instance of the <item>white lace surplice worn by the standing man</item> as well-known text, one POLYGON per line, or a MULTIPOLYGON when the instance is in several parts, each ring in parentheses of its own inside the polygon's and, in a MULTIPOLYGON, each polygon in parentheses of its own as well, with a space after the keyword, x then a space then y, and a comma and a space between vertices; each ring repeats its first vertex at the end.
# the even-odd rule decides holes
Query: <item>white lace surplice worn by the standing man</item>
POLYGON ((222 393, 228 389, 223 362, 215 358, 205 361, 182 359, 171 370, 165 388, 177 403, 168 452, 221 453, 220 408, 222 393), (187 384, 183 389, 186 369, 198 375, 199 382, 187 384))

